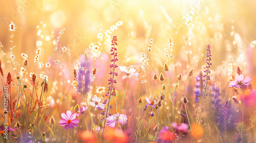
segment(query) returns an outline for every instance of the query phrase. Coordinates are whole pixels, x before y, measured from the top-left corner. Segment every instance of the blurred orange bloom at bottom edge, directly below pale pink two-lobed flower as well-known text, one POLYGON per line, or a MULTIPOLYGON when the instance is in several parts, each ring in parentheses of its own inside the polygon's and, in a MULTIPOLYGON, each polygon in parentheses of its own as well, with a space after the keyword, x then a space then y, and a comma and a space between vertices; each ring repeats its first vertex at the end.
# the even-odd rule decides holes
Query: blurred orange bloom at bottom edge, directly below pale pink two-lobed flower
POLYGON ((128 136, 119 129, 106 129, 104 137, 106 141, 114 143, 124 143, 129 141, 128 136))

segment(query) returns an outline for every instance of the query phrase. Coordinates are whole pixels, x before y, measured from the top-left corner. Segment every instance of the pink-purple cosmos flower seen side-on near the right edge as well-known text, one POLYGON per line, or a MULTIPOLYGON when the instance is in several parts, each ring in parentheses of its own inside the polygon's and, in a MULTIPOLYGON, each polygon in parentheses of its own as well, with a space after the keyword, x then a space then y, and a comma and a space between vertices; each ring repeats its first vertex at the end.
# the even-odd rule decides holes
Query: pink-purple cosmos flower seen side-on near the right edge
POLYGON ((250 77, 246 76, 244 79, 244 76, 241 74, 237 76, 234 81, 231 81, 228 85, 228 87, 236 87, 236 88, 245 88, 249 85, 251 82, 250 77))

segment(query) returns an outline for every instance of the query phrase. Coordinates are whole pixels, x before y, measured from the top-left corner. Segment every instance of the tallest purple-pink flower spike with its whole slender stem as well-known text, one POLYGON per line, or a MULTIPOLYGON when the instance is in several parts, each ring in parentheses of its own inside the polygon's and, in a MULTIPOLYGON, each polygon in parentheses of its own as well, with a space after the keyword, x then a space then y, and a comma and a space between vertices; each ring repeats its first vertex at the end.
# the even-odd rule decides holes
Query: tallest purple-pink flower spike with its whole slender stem
POLYGON ((109 116, 109 106, 110 106, 110 101, 111 101, 111 97, 115 94, 113 91, 115 90, 115 87, 113 86, 114 83, 116 83, 116 80, 114 80, 114 76, 118 76, 118 74, 115 72, 115 68, 118 67, 118 65, 115 64, 116 61, 118 61, 117 59, 117 48, 115 47, 115 45, 117 44, 117 35, 113 35, 113 38, 111 40, 111 50, 110 52, 113 57, 113 59, 111 59, 111 62, 113 62, 113 64, 110 64, 110 68, 113 68, 113 71, 110 71, 110 75, 112 75, 112 78, 109 79, 109 89, 108 92, 106 93, 105 96, 109 96, 109 100, 108 100, 108 107, 106 108, 106 114, 105 114, 105 118, 104 118, 104 123, 103 123, 103 129, 102 129, 102 134, 104 134, 104 130, 105 130, 105 126, 106 126, 106 118, 109 116), (113 94, 113 95, 112 95, 113 94))

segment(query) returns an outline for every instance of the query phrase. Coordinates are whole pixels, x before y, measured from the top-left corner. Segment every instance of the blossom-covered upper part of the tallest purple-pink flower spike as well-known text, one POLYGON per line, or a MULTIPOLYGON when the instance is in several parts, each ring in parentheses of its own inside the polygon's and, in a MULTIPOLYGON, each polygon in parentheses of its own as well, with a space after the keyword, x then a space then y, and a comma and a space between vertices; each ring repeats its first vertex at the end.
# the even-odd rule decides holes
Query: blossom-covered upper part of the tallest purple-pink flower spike
POLYGON ((110 96, 110 94, 112 94, 112 96, 114 95, 114 92, 112 92, 113 90, 115 90, 115 87, 113 86, 113 84, 116 83, 116 80, 114 80, 114 76, 118 76, 118 74, 115 72, 115 68, 118 67, 118 65, 115 64, 115 62, 118 61, 117 53, 116 53, 117 49, 115 47, 115 45, 118 45, 117 44, 117 35, 113 35, 113 39, 111 40, 111 42, 112 42, 111 45, 113 47, 111 47, 110 52, 112 52, 111 55, 113 55, 114 58, 111 59, 111 62, 113 62, 113 63, 110 64, 110 68, 113 68, 113 71, 110 71, 109 74, 113 75, 113 77, 109 79, 110 86, 108 87, 109 89, 108 89, 108 92, 106 92, 105 96, 110 96))

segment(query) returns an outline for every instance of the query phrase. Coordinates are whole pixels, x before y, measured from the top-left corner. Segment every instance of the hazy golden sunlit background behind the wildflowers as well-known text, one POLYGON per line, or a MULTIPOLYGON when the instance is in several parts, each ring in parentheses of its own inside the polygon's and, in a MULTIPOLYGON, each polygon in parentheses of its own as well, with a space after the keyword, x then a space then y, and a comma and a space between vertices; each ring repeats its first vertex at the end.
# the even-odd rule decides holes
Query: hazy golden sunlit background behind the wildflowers
MULTIPOLYGON (((90 63, 90 60, 88 63, 93 64, 92 67, 97 67, 98 72, 92 85, 92 91, 89 93, 89 99, 97 93, 96 89, 99 86, 104 86, 105 90, 107 89, 110 77, 108 73, 112 70, 109 68, 112 58, 110 55, 112 35, 118 36, 118 66, 132 65, 140 74, 137 78, 129 79, 129 88, 127 89, 129 95, 131 93, 136 95, 135 100, 137 100, 138 91, 143 100, 144 96, 153 100, 157 96, 159 97, 152 77, 154 74, 160 75, 164 72, 162 67, 168 60, 164 49, 169 46, 169 38, 172 38, 174 42, 174 51, 171 53, 173 58, 167 61, 171 68, 169 79, 172 83, 170 84, 176 83, 176 76, 179 74, 185 77, 180 82, 176 101, 180 100, 186 87, 187 71, 194 68, 194 77, 188 85, 188 95, 186 94, 191 101, 191 105, 189 105, 191 114, 194 114, 192 107, 197 105, 194 102, 195 77, 199 76, 206 65, 205 48, 207 44, 211 45, 212 52, 211 82, 221 87, 222 105, 232 97, 233 90, 228 87, 228 83, 232 75, 236 74, 237 66, 243 69, 244 75, 251 77, 251 84, 256 86, 256 56, 254 56, 256 55, 254 47, 256 44, 256 1, 254 0, 0 0, 0 6, 0 42, 2 42, 6 54, 0 53, 5 74, 4 82, 6 82, 8 71, 13 77, 16 76, 12 64, 7 62, 10 60, 11 51, 19 63, 17 71, 21 74, 23 73, 21 68, 23 68, 24 59, 20 54, 27 54, 29 66, 26 67, 24 83, 29 84, 30 90, 26 90, 25 93, 28 95, 33 88, 29 82, 31 73, 37 74, 39 84, 43 81, 44 75, 47 75, 49 77, 49 93, 45 96, 44 101, 49 102, 47 107, 50 108, 45 116, 54 115, 56 121, 59 120, 60 113, 66 112, 68 109, 63 96, 67 96, 70 106, 77 104, 73 100, 76 90, 71 83, 73 70, 77 62, 81 62, 84 53, 89 55, 89 59, 94 59, 93 63, 90 63), (17 27, 14 32, 9 31, 11 21, 17 27), (121 25, 113 29, 112 26, 118 23, 121 25), (57 50, 54 51, 56 39, 62 28, 66 30, 59 39, 57 50), (110 37, 106 38, 108 32, 111 32, 108 35, 110 37), (10 37, 12 34, 14 34, 14 38, 10 37), (146 74, 142 77, 141 53, 147 54, 151 38, 154 40, 152 52, 146 67, 146 74), (93 51, 89 47, 92 43, 99 46, 100 53, 97 53, 98 56, 94 56, 96 58, 92 58, 93 51), (61 51, 63 46, 68 48, 67 52, 61 51), (41 55, 39 64, 35 65, 33 62, 36 55, 35 50, 39 47, 41 55), (53 61, 59 60, 59 65, 52 63, 51 67, 46 67, 46 63, 50 62, 51 58, 53 61), (40 67, 40 64, 44 64, 44 66, 40 67), (141 89, 138 90, 141 80, 145 84, 142 84, 141 89), (51 106, 52 104, 53 106, 51 106)), ((118 84, 115 87, 121 95, 126 85, 126 80, 122 79, 125 74, 121 73, 119 69, 117 72, 118 84)), ((13 83, 16 82, 17 80, 13 83)), ((158 82, 157 84, 161 86, 162 83, 158 82)), ((2 89, 2 86, 0 88, 2 89)), ((40 92, 39 90, 40 88, 37 88, 37 92, 40 92)), ((12 91, 14 91, 13 93, 17 92, 14 88, 12 91)), ((105 98, 105 92, 97 94, 102 97, 101 102, 105 98)), ((119 103, 121 97, 119 96, 117 99, 119 103)), ((175 102, 176 105, 179 103, 175 102)), ((115 102, 111 104, 113 104, 113 110, 111 109, 110 113, 115 113, 115 102)), ((22 106, 25 109, 25 105, 22 106)), ((126 106, 126 102, 124 106, 126 106)), ((178 106, 175 107, 178 111, 178 106)), ((170 111, 170 108, 169 103, 167 110, 170 111)), ((19 117, 25 118, 27 112, 23 111, 19 117)), ((211 113, 211 111, 209 112, 211 113)), ((100 113, 101 111, 95 111, 98 121, 102 117, 100 113)), ((124 110, 124 113, 129 115, 129 110, 124 110)), ((161 112, 161 114, 163 118, 166 117, 165 112, 161 112)), ((195 118, 193 122, 195 122, 195 118)), ((59 123, 57 124, 59 125, 59 123)), ((44 127, 44 130, 47 129, 44 127)), ((57 126, 54 130, 56 134, 62 136, 62 127, 57 126)), ((216 135, 219 134, 212 133, 209 138, 215 138, 216 135)))

